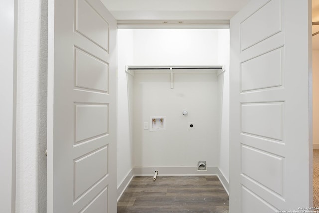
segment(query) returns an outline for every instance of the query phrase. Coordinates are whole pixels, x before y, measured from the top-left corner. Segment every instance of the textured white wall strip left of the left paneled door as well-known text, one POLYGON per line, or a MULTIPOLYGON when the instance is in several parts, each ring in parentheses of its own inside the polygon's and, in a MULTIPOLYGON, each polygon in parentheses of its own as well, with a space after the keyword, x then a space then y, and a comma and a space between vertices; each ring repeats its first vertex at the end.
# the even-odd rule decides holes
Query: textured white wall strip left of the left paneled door
POLYGON ((47 1, 18 1, 16 212, 46 212, 47 1))

